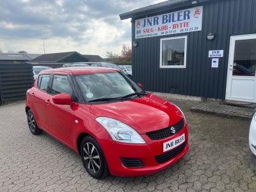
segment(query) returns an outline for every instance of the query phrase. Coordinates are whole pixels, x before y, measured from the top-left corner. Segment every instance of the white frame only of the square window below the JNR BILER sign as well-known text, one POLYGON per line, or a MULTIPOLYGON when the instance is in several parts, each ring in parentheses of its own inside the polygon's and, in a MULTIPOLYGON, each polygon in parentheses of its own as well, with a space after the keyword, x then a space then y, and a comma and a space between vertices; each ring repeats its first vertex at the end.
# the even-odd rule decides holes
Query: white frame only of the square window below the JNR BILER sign
POLYGON ((161 38, 160 39, 160 62, 159 62, 159 67, 160 68, 186 68, 186 63, 187 63, 187 44, 188 44, 188 36, 172 36, 168 38, 161 38), (184 65, 163 65, 163 42, 165 40, 174 40, 174 39, 184 39, 184 65))

